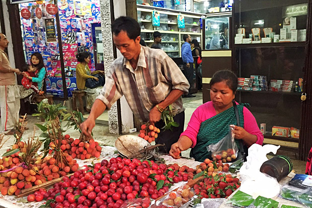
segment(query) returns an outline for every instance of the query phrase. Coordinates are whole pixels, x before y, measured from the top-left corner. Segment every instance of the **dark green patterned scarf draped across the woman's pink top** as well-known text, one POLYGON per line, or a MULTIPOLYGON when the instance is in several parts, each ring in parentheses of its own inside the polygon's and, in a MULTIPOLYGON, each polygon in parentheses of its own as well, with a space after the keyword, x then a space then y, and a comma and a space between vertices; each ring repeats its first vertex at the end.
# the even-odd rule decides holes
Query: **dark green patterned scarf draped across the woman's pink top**
MULTIPOLYGON (((244 128, 244 105, 237 105, 240 117, 241 127, 244 128)), ((234 111, 234 107, 205 120, 200 124, 200 128, 197 134, 197 142, 194 148, 192 148, 190 157, 196 161, 203 162, 206 158, 211 158, 211 152, 207 151, 207 146, 215 144, 222 140, 228 133, 230 124, 237 125, 237 119, 234 111)), ((238 148, 240 149, 239 140, 235 140, 238 148)))

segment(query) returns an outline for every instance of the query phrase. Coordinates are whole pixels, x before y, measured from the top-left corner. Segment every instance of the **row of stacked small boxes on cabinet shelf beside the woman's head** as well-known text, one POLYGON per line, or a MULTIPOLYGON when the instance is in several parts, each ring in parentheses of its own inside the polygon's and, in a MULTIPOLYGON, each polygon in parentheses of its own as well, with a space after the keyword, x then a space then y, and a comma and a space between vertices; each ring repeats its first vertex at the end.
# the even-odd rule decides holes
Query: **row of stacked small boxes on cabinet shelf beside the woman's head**
POLYGON ((267 90, 267 77, 261 75, 251 75, 250 78, 239 78, 238 90, 262 91, 267 90))

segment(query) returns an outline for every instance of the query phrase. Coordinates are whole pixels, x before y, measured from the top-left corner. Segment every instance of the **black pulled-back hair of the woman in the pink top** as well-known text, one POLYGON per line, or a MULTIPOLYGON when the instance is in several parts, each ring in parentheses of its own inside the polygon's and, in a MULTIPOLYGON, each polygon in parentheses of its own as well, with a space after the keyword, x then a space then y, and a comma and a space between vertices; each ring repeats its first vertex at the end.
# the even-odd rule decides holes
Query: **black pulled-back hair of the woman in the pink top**
POLYGON ((210 87, 214 85, 215 83, 219 82, 225 82, 229 89, 231 89, 234 92, 236 92, 238 87, 238 79, 236 74, 229 70, 221 70, 214 73, 210 80, 210 87))

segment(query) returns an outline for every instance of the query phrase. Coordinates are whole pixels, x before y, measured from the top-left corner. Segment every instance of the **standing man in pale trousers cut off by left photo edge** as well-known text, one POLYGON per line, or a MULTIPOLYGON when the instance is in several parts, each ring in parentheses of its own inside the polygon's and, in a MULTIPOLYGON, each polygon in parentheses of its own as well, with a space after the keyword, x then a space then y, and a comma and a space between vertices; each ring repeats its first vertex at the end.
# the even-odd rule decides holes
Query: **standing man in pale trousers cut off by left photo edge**
POLYGON ((21 74, 18 68, 10 66, 9 58, 4 51, 9 45, 5 34, 0 33, 0 107, 1 125, 6 135, 15 133, 15 123, 19 120, 20 90, 17 86, 16 74, 21 74))

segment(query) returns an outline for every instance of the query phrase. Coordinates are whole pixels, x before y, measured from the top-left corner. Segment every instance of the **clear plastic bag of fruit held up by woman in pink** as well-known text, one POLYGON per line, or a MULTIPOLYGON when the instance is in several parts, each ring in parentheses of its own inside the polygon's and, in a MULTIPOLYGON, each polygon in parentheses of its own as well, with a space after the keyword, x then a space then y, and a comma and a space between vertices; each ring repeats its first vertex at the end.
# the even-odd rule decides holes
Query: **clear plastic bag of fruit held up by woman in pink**
POLYGON ((229 125, 229 132, 216 144, 207 146, 213 161, 232 162, 237 159, 239 148, 235 143, 235 125, 229 125))

